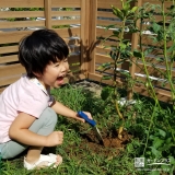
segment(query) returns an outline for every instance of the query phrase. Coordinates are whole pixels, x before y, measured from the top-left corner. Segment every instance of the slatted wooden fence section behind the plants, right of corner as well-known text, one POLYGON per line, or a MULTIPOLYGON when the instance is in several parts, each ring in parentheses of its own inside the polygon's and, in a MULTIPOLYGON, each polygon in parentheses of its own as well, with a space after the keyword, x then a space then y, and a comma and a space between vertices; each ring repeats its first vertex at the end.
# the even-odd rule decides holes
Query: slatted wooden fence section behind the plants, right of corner
MULTIPOLYGON (((136 2, 133 5, 138 5, 138 7, 142 7, 143 4, 150 2, 151 4, 159 4, 161 5, 161 0, 139 0, 138 3, 136 2)), ((110 24, 117 24, 118 26, 121 25, 121 22, 119 21, 119 19, 116 19, 116 16, 112 13, 110 9, 110 4, 113 4, 114 7, 120 8, 121 3, 118 0, 94 0, 94 5, 93 9, 91 11, 91 15, 93 16, 92 19, 92 24, 90 31, 90 43, 91 45, 96 44, 95 45, 95 49, 92 50, 92 52, 90 54, 89 58, 90 58, 90 65, 89 65, 89 79, 92 80, 96 80, 96 81, 101 81, 102 79, 102 72, 100 72, 97 70, 97 68, 104 63, 104 62, 110 62, 112 58, 107 55, 109 52, 109 50, 107 48, 104 48, 104 44, 102 45, 100 43, 100 40, 97 40, 96 38, 101 38, 101 37, 108 37, 109 35, 113 34, 113 30, 108 30, 105 31, 103 27, 100 26, 107 26, 110 24), (96 2, 96 3, 95 3, 96 2), (107 10, 106 10, 107 9, 107 10), (118 22, 117 22, 118 20, 118 22), (96 27, 97 26, 97 27, 96 27)), ((165 2, 165 10, 167 11, 167 7, 170 8, 172 5, 172 1, 166 1, 165 2)), ((155 16, 156 21, 162 21, 162 16, 161 15, 156 15, 155 16)), ((148 26, 148 25, 147 25, 148 26)), ((125 35, 126 39, 130 39, 131 43, 131 47, 132 50, 138 48, 139 45, 139 36, 138 34, 128 34, 125 35)), ((107 40, 105 42, 105 46, 113 46, 113 45, 117 45, 117 42, 115 40, 107 40)), ((147 65, 149 74, 152 79, 153 85, 154 85, 154 90, 155 93, 159 97, 159 100, 163 101, 163 102, 168 102, 171 103, 172 97, 171 97, 171 88, 170 84, 166 83, 165 86, 163 86, 162 82, 164 82, 161 73, 159 70, 161 70, 162 72, 164 72, 166 70, 165 68, 165 63, 158 61, 155 59, 155 55, 159 52, 160 49, 160 43, 153 44, 153 42, 150 39, 150 34, 145 33, 143 35, 143 40, 142 40, 142 45, 145 46, 158 46, 152 52, 151 55, 147 56, 147 61, 149 62, 147 65), (159 69, 153 68, 152 63, 159 69)), ((135 59, 135 58, 132 58, 135 59)), ((140 60, 139 62, 137 62, 137 66, 133 63, 131 67, 129 66, 129 62, 124 62, 122 65, 120 65, 118 67, 120 70, 126 70, 129 71, 130 74, 132 75, 133 79, 138 79, 139 81, 144 81, 145 82, 145 74, 143 72, 143 62, 140 60)), ((113 70, 108 70, 108 73, 112 73, 113 70)), ((105 73, 103 73, 105 74, 105 73)), ((175 75, 175 69, 173 68, 172 71, 173 78, 175 75)), ((124 75, 119 75, 117 78, 117 82, 118 84, 122 84, 125 78, 124 75)), ((103 81, 105 83, 109 83, 108 80, 103 81)), ((110 82, 112 83, 112 82, 110 82)), ((137 83, 133 85, 133 88, 131 89, 131 91, 128 91, 128 97, 132 96, 132 92, 138 92, 139 94, 149 96, 149 93, 145 89, 145 86, 141 83, 137 83)))

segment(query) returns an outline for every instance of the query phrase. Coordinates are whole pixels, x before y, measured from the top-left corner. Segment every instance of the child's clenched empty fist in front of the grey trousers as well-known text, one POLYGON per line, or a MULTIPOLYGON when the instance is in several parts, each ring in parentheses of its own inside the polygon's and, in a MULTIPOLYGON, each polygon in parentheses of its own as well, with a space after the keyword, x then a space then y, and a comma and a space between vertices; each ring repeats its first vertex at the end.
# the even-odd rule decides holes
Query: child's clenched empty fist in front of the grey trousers
POLYGON ((52 133, 47 136, 46 147, 55 147, 58 144, 62 144, 63 141, 63 132, 62 131, 54 131, 52 133))

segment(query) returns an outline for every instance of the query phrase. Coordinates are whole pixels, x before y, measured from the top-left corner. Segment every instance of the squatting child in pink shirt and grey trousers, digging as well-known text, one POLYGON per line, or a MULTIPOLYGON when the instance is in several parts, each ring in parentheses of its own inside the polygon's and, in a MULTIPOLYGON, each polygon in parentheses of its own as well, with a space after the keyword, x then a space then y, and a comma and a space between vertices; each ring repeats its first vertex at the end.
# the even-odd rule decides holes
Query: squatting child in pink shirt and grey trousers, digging
MULTIPOLYGON (((19 46, 19 60, 26 74, 0 94, 0 151, 11 159, 28 148, 24 167, 58 166, 60 155, 43 155, 44 147, 63 141, 62 131, 54 131, 57 114, 84 122, 77 112, 56 102, 50 86, 63 83, 69 65, 65 40, 51 30, 38 30, 24 37, 19 46)), ((85 112, 84 112, 85 113, 85 112)), ((85 113, 90 119, 90 113, 85 113)))

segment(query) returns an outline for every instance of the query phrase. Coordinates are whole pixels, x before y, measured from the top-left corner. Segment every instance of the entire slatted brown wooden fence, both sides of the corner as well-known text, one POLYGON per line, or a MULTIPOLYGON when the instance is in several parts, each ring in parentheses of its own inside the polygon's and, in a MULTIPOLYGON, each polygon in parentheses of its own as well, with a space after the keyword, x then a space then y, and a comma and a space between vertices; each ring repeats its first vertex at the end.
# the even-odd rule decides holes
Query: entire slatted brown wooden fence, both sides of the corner
MULTIPOLYGON (((159 0, 139 0, 137 5, 145 2, 160 3, 159 0)), ((73 74, 79 79, 101 81, 102 74, 98 66, 112 61, 107 56, 109 50, 101 45, 98 38, 109 36, 113 30, 105 31, 103 26, 120 22, 112 13, 110 4, 121 7, 119 0, 4 0, 0 1, 0 92, 13 83, 25 72, 18 61, 18 45, 20 39, 37 28, 52 28, 67 42, 70 48, 69 63, 73 74), (11 11, 8 8, 13 8, 11 11), (16 8, 23 8, 23 11, 16 8), (3 9, 3 11, 2 11, 3 9), (35 11, 35 10, 39 11, 35 11), (13 11, 12 11, 13 10, 13 11), (69 26, 69 27, 66 27, 69 26)), ((172 2, 167 1, 166 5, 172 2)), ((132 49, 138 47, 138 36, 128 34, 132 49)), ((145 43, 149 37, 145 34, 145 43)), ((108 40, 105 45, 116 45, 117 42, 108 40)), ((150 43, 151 44, 151 43, 150 43)), ((150 59, 150 58, 148 58, 150 59)), ((153 60, 153 59, 152 59, 153 60)), ((142 67, 142 62, 139 62, 142 67)), ((159 62, 156 62, 159 66, 159 62)), ((165 66, 160 65, 162 70, 165 66)), ((144 80, 140 67, 129 67, 122 63, 119 69, 128 70, 132 77, 144 80)), ((150 75, 156 78, 155 89, 161 101, 171 100, 170 85, 162 89, 159 73, 150 66, 150 75)), ((109 71, 108 73, 112 73, 109 71)), ((174 72, 173 72, 174 74, 174 72)), ((72 77, 71 77, 72 78, 72 77)), ((71 80, 71 79, 70 79, 71 80)), ((118 77, 119 83, 124 77, 118 77)), ((108 81, 105 81, 109 83, 108 81)), ((133 91, 149 95, 145 88, 137 84, 133 91)))

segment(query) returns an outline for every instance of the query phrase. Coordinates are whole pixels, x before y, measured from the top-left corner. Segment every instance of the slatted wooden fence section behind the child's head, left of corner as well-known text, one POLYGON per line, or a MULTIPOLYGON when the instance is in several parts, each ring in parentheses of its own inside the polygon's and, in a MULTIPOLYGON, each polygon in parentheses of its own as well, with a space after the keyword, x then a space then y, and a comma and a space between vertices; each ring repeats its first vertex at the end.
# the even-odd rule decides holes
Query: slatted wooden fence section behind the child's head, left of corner
POLYGON ((71 52, 70 69, 84 78, 80 70, 85 71, 81 47, 85 46, 84 28, 89 25, 85 3, 81 0, 0 1, 0 92, 25 72, 18 61, 18 45, 22 37, 37 28, 52 28, 67 42, 71 52))

